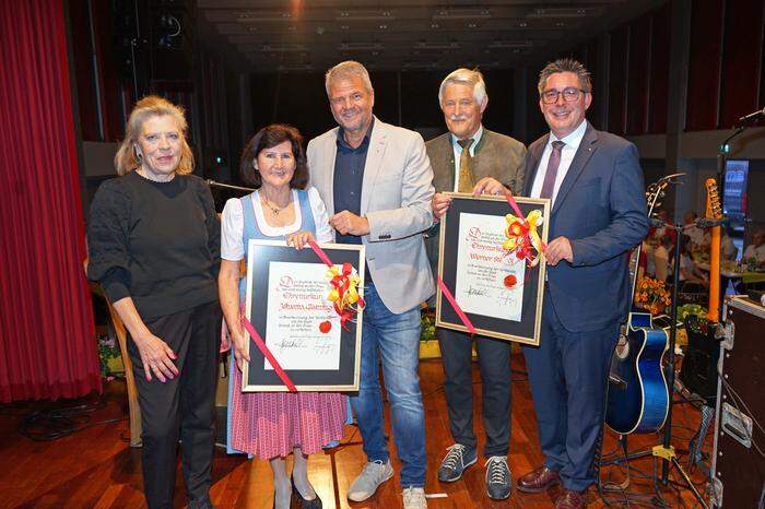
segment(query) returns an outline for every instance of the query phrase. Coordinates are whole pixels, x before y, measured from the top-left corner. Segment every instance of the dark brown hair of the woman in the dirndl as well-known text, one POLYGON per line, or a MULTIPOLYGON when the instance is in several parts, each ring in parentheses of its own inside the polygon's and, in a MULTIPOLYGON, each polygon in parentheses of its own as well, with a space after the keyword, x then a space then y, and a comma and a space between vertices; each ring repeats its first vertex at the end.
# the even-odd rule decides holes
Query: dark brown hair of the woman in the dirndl
POLYGON ((303 150, 303 135, 301 131, 286 123, 272 123, 262 128, 247 143, 242 151, 239 169, 245 181, 256 188, 260 188, 262 181, 260 171, 255 169, 254 163, 266 149, 272 149, 280 143, 289 141, 292 145, 292 154, 295 157, 295 174, 290 180, 291 189, 305 189, 308 184, 308 162, 303 150))

